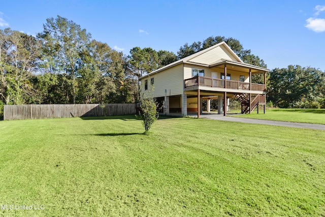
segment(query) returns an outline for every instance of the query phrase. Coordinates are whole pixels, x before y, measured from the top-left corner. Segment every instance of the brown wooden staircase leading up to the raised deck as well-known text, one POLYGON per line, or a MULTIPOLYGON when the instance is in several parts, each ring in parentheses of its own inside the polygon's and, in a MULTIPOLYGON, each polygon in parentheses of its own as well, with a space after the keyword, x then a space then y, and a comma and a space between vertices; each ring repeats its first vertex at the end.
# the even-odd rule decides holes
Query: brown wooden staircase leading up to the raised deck
POLYGON ((249 94, 238 94, 235 97, 241 102, 242 114, 252 112, 258 105, 265 105, 265 96, 257 94, 249 103, 249 94))

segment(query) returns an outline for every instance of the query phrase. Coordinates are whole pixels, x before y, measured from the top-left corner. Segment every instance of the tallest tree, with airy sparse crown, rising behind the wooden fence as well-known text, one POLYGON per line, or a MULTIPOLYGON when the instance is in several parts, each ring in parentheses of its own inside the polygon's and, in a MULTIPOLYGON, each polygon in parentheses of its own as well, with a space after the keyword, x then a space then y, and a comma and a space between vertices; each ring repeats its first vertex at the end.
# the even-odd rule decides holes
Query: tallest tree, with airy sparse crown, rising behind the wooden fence
POLYGON ((73 103, 76 103, 77 82, 80 68, 80 53, 86 49, 90 34, 86 29, 67 18, 48 18, 44 30, 38 34, 43 40, 44 61, 49 72, 66 74, 72 83, 73 103))

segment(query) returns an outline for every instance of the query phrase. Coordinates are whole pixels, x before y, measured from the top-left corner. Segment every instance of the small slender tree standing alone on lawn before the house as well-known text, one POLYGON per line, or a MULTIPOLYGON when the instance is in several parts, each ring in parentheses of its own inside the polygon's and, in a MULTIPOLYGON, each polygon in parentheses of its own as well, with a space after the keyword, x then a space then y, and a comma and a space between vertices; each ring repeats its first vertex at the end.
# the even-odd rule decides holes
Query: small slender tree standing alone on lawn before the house
POLYGON ((153 88, 146 90, 140 96, 140 117, 143 120, 143 126, 145 128, 144 134, 147 135, 153 122, 158 119, 157 104, 153 98, 153 88))

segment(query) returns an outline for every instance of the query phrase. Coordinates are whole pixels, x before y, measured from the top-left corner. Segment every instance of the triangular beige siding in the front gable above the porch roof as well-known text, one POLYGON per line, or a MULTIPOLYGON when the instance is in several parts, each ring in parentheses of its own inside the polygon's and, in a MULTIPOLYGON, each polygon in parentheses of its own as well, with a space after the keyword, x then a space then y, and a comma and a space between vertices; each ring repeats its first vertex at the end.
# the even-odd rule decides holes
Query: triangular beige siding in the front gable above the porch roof
POLYGON ((205 65, 210 65, 219 59, 229 59, 238 61, 235 56, 233 56, 228 50, 223 46, 213 48, 197 57, 194 57, 188 61, 193 63, 200 63, 205 65))

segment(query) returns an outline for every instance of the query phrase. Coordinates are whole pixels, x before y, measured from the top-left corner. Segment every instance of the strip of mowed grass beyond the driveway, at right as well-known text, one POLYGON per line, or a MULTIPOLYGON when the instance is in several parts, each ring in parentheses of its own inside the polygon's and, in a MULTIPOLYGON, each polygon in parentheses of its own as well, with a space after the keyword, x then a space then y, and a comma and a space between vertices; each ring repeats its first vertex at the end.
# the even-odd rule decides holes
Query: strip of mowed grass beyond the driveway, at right
POLYGON ((257 114, 256 109, 251 114, 238 115, 238 117, 280 120, 302 123, 319 123, 325 125, 325 109, 268 109, 263 113, 263 109, 257 114))

